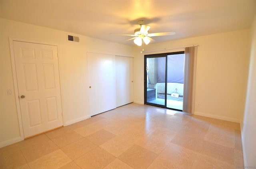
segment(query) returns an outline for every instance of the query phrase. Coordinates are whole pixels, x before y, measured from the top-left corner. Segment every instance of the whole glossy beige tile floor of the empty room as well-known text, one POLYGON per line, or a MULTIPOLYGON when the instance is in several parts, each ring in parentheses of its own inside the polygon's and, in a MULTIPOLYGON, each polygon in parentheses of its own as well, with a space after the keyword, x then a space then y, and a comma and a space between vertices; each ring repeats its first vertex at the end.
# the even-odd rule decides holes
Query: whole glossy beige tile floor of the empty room
POLYGON ((242 166, 238 123, 134 103, 0 149, 0 169, 242 166))

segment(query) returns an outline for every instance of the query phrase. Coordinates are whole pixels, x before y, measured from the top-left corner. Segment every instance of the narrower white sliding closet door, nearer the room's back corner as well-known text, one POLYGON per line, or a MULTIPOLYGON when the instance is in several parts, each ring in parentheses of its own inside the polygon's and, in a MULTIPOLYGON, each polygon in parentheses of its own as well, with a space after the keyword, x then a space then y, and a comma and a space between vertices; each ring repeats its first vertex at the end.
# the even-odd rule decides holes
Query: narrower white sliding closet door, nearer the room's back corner
POLYGON ((133 102, 133 58, 116 56, 116 107, 133 102))

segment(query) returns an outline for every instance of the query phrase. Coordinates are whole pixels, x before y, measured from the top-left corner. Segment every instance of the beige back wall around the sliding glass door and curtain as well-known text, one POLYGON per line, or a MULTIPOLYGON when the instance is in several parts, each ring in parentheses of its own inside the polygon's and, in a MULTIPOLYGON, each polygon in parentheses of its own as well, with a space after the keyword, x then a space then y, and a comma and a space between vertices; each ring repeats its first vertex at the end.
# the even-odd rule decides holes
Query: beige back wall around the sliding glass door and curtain
MULTIPOLYGON (((151 43, 144 51, 199 45, 195 114, 240 122, 244 112, 249 65, 249 30, 151 43), (200 106, 198 106, 200 104, 200 106)), ((134 102, 144 103, 144 54, 134 58, 134 102)), ((137 47, 137 53, 140 48, 137 47)))

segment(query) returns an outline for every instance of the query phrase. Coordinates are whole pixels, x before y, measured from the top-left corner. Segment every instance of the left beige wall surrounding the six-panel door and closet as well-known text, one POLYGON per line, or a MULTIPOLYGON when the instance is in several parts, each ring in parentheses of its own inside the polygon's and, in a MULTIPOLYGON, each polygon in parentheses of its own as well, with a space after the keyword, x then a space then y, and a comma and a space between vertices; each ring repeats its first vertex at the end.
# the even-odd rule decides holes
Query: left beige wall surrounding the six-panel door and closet
POLYGON ((14 96, 9 37, 58 45, 64 124, 89 116, 86 52, 133 56, 134 47, 82 35, 67 41, 67 32, 0 18, 0 147, 19 141, 20 130, 14 96), (7 95, 7 89, 12 95, 7 95))

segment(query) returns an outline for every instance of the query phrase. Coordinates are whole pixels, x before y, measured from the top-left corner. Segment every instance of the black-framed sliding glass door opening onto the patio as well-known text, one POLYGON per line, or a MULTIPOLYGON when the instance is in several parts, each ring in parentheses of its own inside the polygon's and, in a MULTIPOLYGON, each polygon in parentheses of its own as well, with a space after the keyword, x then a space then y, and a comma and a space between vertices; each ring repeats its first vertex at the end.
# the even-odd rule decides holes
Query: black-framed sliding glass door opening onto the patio
POLYGON ((145 55, 145 104, 182 111, 184 51, 145 55))

